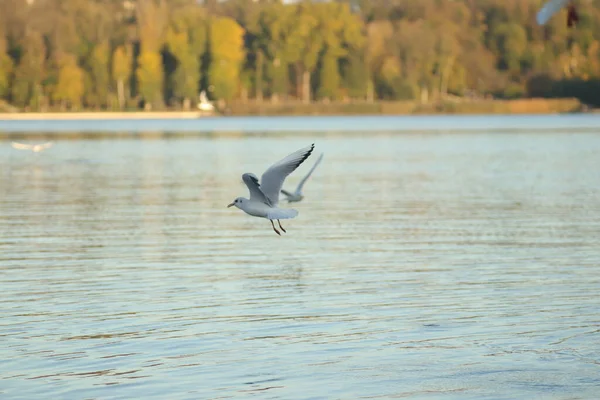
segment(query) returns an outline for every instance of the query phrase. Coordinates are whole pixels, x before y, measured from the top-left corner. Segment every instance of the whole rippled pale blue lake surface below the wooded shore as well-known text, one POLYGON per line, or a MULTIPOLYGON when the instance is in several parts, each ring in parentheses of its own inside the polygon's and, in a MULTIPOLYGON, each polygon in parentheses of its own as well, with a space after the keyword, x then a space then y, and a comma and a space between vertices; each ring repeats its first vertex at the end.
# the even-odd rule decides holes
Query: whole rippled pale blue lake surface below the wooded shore
POLYGON ((0 398, 597 398, 600 116, 490 118, 0 122, 0 398))

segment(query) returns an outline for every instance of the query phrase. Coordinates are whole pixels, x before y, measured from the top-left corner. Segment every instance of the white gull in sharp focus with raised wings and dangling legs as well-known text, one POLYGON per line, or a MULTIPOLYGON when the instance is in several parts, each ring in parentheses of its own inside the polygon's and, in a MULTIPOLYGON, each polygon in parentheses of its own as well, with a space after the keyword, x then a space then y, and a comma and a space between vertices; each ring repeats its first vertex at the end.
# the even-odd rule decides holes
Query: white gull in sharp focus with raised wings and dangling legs
POLYGON ((315 145, 313 143, 276 162, 263 173, 260 178, 260 184, 256 175, 250 173, 243 174, 242 180, 248 186, 250 199, 238 197, 227 207, 236 206, 248 215, 268 219, 271 221, 271 226, 275 233, 281 236, 281 233, 275 228, 273 220, 276 219, 281 230, 285 232, 279 220, 294 218, 298 215, 298 211, 296 210, 277 208, 281 186, 285 178, 310 156, 314 148, 315 145))

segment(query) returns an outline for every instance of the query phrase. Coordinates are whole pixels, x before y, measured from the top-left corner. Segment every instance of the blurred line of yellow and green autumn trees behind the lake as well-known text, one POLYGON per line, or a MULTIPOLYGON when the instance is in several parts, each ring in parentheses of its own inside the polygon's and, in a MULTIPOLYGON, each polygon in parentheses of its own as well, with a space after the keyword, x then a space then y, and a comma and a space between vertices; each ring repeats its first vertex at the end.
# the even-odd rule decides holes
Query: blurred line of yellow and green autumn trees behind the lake
POLYGON ((600 1, 0 0, 0 99, 28 110, 211 99, 575 96, 600 104, 600 1), (562 12, 564 13, 564 11, 562 12), (592 89, 590 89, 592 88, 592 89))

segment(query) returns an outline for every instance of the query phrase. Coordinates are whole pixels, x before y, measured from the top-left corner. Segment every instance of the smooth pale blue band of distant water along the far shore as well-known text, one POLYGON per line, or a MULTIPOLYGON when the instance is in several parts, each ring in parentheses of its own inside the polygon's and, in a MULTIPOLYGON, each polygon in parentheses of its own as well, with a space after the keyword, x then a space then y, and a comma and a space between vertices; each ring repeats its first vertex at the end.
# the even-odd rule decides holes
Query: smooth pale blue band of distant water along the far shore
POLYGON ((600 129, 600 114, 423 115, 340 117, 203 117, 198 119, 3 121, 0 132, 562 132, 600 129))

